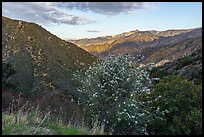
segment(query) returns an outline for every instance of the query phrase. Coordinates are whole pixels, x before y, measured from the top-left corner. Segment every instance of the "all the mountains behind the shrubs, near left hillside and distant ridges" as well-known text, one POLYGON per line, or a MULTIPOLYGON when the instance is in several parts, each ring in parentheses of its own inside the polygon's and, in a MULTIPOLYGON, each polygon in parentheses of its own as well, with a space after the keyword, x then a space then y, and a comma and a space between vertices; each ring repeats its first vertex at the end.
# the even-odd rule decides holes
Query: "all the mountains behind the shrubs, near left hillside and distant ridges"
MULTIPOLYGON (((109 54, 129 54, 141 65, 155 63, 160 66, 155 75, 176 73, 202 81, 201 51, 202 28, 135 30, 68 42, 38 24, 2 16, 2 63, 11 64, 15 70, 6 81, 16 87, 15 93, 22 93, 43 109, 62 107, 67 119, 82 111, 73 100, 86 98, 78 92, 73 75, 80 70, 83 74, 92 63, 109 54)), ((4 90, 2 99, 7 101, 11 97, 9 90, 4 90)))

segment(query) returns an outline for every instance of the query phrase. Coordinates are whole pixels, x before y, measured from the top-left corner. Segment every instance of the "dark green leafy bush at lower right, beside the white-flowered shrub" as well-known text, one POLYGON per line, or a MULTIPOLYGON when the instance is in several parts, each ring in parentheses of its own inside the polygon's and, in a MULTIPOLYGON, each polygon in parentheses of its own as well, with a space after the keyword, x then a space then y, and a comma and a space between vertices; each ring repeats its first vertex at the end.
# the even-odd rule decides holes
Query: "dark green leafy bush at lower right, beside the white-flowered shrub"
POLYGON ((201 85, 181 76, 164 77, 146 99, 152 114, 150 134, 202 134, 201 85))

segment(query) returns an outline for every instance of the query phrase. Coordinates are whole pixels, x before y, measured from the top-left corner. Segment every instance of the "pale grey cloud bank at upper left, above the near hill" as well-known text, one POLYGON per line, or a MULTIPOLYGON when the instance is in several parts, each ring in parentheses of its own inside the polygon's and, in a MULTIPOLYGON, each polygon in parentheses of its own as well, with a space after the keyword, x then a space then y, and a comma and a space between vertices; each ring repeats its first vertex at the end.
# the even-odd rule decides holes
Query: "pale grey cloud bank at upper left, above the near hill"
POLYGON ((39 24, 83 25, 94 23, 93 20, 62 12, 55 6, 55 3, 51 2, 3 2, 2 15, 39 24))

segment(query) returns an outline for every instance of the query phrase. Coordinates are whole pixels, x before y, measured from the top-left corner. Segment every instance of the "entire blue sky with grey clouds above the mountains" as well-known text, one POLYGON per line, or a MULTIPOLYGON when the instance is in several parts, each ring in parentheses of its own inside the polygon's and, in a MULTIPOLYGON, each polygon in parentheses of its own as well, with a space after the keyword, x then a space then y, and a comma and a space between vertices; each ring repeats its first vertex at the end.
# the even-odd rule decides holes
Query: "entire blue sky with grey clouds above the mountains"
POLYGON ((70 40, 202 27, 202 2, 2 2, 2 15, 70 40))

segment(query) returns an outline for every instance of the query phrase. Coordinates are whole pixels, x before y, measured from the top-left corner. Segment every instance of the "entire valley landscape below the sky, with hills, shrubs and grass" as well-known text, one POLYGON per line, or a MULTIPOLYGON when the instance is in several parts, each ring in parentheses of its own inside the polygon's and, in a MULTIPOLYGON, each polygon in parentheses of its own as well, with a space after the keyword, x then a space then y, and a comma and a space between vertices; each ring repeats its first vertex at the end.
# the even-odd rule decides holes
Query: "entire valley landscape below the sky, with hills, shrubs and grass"
POLYGON ((202 28, 65 41, 2 16, 4 134, 202 134, 201 86, 202 28))

